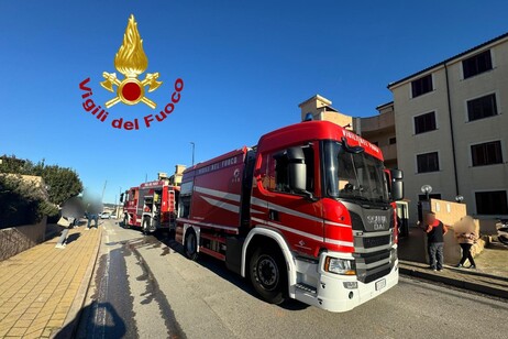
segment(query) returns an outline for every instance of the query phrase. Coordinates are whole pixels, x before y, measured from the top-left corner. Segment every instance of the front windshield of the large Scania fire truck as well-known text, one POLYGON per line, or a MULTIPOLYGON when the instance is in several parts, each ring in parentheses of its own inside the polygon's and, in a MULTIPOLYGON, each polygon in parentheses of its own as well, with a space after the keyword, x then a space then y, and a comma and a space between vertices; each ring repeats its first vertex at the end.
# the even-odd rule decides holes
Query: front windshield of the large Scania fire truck
POLYGON ((323 142, 325 196, 361 203, 389 204, 384 164, 364 153, 346 152, 341 143, 323 142))

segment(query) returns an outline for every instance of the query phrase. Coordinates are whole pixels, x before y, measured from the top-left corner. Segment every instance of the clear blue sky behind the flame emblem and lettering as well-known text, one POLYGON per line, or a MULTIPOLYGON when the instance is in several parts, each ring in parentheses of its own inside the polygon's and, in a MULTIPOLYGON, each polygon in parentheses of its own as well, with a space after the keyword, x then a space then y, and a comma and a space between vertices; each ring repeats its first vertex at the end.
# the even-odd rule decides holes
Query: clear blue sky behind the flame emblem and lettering
MULTIPOLYGON (((388 83, 508 31, 506 1, 5 1, 0 0, 0 155, 75 168, 86 187, 113 201, 120 190, 254 145, 299 121, 298 103, 320 94, 340 111, 365 117, 391 100, 388 83), (108 109, 100 122, 82 109, 92 98, 133 13, 148 73, 163 86, 140 103, 108 109), (142 119, 185 88, 175 111, 150 129, 111 128, 142 119)), ((143 77, 144 75, 142 75, 143 77)))

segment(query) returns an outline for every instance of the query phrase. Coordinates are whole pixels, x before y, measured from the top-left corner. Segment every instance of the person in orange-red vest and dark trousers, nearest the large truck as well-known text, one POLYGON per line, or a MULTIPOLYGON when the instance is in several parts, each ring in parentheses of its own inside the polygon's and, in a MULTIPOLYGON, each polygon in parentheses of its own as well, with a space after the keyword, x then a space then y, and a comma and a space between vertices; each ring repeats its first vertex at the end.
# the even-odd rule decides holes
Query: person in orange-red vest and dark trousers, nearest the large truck
POLYGON ((434 212, 428 212, 422 229, 427 233, 427 250, 429 252, 430 269, 441 272, 444 263, 444 234, 448 227, 435 218, 434 212))

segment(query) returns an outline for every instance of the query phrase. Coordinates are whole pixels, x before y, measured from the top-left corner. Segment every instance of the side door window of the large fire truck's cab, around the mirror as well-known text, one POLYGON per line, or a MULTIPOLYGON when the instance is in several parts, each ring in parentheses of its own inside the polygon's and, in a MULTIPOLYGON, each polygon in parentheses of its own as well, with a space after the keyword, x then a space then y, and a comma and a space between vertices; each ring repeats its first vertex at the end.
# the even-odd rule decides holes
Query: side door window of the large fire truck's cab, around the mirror
MULTIPOLYGON (((314 192, 314 152, 311 145, 301 146, 303 151, 303 163, 307 170, 307 183, 306 190, 313 193, 314 192)), ((287 150, 268 154, 265 157, 266 163, 266 176, 263 179, 263 186, 268 190, 281 192, 281 193, 291 193, 292 192, 290 183, 290 172, 289 164, 295 162, 295 160, 289 160, 287 155, 287 150)))

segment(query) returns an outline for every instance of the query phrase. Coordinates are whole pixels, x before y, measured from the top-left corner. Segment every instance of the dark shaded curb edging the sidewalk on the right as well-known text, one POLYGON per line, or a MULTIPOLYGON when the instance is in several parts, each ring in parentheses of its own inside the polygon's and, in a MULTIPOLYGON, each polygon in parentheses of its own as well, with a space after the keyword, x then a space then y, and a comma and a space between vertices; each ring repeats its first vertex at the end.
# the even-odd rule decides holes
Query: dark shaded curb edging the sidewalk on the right
POLYGON ((466 281, 461 281, 456 278, 451 278, 444 275, 438 275, 438 274, 432 274, 432 273, 427 273, 427 272, 421 272, 419 270, 412 270, 409 267, 404 267, 399 266, 399 272, 400 274, 404 275, 409 275, 409 276, 415 276, 415 277, 420 277, 442 284, 446 284, 450 286, 463 288, 463 289, 468 289, 477 293, 483 293, 487 295, 492 295, 495 297, 500 297, 500 298, 506 298, 508 299, 508 291, 505 288, 496 288, 490 285, 485 285, 485 284, 478 284, 478 283, 472 283, 472 282, 466 282, 466 281))

